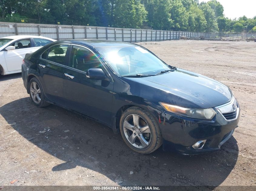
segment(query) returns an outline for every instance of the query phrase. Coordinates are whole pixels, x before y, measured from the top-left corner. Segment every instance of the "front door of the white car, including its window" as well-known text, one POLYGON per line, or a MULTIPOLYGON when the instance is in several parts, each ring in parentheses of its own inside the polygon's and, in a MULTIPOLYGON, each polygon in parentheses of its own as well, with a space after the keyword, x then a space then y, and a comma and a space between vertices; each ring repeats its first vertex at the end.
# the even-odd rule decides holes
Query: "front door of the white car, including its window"
POLYGON ((21 39, 10 45, 15 46, 15 50, 4 51, 5 62, 9 72, 21 70, 25 54, 35 52, 39 48, 31 47, 31 45, 31 38, 21 39))

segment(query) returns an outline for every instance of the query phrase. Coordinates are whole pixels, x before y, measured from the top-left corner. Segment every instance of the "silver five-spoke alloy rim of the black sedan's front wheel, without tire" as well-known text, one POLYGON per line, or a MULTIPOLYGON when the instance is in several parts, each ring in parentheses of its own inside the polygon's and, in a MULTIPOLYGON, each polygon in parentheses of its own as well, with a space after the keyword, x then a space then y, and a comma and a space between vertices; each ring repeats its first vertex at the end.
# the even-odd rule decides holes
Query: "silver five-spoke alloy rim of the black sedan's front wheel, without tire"
POLYGON ((137 114, 128 115, 123 123, 128 142, 136 148, 146 148, 151 142, 151 130, 145 119, 137 114))

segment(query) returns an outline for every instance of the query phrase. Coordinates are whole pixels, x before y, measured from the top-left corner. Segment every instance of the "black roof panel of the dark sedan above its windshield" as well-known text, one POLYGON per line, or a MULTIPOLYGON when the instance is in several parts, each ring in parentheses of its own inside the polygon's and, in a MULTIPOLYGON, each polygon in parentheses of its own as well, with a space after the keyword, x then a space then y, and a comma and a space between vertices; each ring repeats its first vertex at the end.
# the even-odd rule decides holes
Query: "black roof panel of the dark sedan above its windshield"
POLYGON ((100 39, 70 39, 70 40, 60 40, 57 42, 74 43, 79 45, 91 46, 94 48, 113 47, 113 46, 137 46, 136 44, 127 43, 127 42, 120 42, 115 40, 100 40, 100 39))

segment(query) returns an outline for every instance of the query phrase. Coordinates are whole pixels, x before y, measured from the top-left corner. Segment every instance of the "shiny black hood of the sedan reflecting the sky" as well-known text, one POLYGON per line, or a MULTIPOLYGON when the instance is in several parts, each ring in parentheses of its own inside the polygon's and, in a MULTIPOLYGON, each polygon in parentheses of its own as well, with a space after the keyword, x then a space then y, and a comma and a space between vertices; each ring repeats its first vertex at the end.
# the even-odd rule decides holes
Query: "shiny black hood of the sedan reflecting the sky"
MULTIPOLYGON (((126 78, 127 79, 127 78, 126 78)), ((146 85, 152 92, 151 100, 190 108, 210 108, 227 103, 232 91, 224 84, 206 76, 177 68, 157 76, 129 78, 146 85)), ((145 88, 140 86, 140 88, 145 88)), ((145 91, 145 92, 148 92, 145 91)), ((140 96, 145 97, 140 90, 140 96)), ((149 97, 146 95, 146 97, 149 97)))

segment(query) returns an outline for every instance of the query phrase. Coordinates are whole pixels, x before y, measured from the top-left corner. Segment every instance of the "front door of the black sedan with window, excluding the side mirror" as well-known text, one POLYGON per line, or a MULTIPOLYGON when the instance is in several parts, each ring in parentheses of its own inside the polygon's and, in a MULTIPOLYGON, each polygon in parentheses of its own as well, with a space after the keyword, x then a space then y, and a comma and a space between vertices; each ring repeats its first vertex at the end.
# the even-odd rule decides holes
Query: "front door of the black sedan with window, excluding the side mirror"
POLYGON ((86 72, 90 68, 101 68, 107 74, 91 50, 74 45, 71 49, 69 67, 64 71, 66 106, 110 124, 113 82, 108 75, 105 80, 87 78, 86 72))

